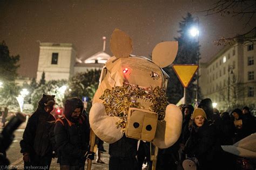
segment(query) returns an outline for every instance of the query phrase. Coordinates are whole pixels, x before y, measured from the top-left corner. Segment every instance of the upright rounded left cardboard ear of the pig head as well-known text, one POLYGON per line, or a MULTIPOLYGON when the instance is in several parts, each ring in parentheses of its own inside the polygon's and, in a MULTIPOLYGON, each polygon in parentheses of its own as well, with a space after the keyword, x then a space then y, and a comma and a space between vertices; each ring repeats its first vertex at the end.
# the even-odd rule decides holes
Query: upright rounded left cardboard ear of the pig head
POLYGON ((129 57, 132 52, 132 39, 125 32, 114 29, 110 39, 110 49, 116 58, 129 57))

